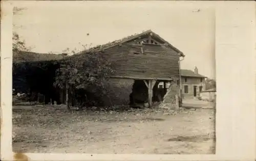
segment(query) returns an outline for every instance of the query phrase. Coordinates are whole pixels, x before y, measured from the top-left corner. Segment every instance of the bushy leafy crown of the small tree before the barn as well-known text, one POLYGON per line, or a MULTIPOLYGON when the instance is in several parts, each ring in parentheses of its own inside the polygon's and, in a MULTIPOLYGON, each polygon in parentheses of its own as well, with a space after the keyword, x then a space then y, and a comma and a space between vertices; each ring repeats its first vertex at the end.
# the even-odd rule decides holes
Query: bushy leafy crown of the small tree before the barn
POLYGON ((101 53, 81 53, 65 59, 56 71, 54 85, 63 89, 66 83, 75 89, 105 92, 105 85, 114 71, 108 58, 101 53))

